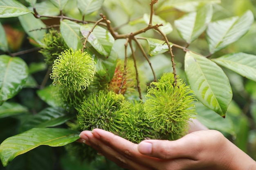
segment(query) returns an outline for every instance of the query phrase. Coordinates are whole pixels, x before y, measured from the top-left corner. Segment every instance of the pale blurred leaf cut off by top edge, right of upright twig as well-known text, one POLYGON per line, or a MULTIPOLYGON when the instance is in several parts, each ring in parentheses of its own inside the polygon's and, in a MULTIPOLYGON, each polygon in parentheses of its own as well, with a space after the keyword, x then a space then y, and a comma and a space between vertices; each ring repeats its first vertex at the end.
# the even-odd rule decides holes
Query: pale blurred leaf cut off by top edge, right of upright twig
POLYGON ((216 4, 220 3, 220 0, 163 0, 159 1, 157 11, 165 11, 171 8, 178 9, 179 11, 192 12, 202 4, 216 4))

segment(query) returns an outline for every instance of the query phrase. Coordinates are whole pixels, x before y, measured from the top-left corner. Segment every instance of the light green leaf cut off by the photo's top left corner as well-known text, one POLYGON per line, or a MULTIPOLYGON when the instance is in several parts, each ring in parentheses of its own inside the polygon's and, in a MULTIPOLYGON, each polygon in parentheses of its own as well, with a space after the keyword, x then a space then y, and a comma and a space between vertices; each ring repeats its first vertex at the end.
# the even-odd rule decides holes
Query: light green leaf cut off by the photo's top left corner
POLYGON ((27 13, 31 13, 31 11, 16 0, 0 1, 0 18, 18 17, 27 13))

